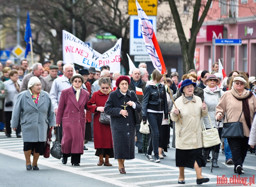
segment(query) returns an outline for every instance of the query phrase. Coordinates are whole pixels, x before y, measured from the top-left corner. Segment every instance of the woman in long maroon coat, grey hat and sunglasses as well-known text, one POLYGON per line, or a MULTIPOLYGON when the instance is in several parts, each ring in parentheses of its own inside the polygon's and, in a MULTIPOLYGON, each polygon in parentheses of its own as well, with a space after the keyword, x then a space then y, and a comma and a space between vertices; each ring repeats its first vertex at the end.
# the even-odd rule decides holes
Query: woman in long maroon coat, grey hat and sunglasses
POLYGON ((67 157, 71 156, 72 165, 78 166, 80 157, 84 153, 84 109, 89 101, 89 93, 82 89, 84 77, 81 74, 75 74, 70 80, 73 86, 62 90, 61 93, 56 115, 56 127, 60 127, 62 121, 62 163, 66 164, 67 157))

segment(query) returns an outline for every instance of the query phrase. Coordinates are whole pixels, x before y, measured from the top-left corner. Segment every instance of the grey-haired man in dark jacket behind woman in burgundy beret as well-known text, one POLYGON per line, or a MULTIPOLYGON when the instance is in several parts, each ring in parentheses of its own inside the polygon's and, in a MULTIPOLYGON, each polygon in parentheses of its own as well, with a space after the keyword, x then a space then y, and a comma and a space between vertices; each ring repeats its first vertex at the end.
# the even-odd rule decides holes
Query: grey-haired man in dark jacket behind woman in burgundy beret
MULTIPOLYGON (((141 70, 145 71, 146 69, 143 68, 141 70)), ((135 68, 132 70, 132 74, 130 78, 131 83, 129 84, 128 89, 130 91, 133 90, 136 93, 136 96, 139 99, 139 102, 142 103, 146 82, 141 79, 140 72, 141 71, 138 68, 135 68)), ((140 112, 139 115, 140 115, 140 120, 142 120, 142 113, 140 112)), ((135 129, 136 129, 138 153, 143 153, 143 140, 142 140, 142 133, 140 132, 140 125, 136 125, 135 129)))

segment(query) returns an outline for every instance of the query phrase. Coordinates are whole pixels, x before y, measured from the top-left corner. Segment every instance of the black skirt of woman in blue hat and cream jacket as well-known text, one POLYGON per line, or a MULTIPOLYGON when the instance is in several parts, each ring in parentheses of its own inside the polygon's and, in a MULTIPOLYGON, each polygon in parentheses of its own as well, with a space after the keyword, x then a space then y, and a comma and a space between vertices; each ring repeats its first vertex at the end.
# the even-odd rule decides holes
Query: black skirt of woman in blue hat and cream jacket
POLYGON ((198 149, 176 149, 176 166, 194 169, 195 161, 199 167, 205 167, 202 148, 198 149))

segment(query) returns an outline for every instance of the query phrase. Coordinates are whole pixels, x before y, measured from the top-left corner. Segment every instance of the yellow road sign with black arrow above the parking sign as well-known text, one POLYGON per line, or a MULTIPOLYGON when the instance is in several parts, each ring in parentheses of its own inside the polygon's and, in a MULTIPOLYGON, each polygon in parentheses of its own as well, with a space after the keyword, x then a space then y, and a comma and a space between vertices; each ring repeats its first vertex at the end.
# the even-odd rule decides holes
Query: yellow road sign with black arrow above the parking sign
MULTIPOLYGON (((138 0, 147 16, 157 15, 157 0, 138 0)), ((128 0, 128 14, 138 15, 135 0, 128 0)))

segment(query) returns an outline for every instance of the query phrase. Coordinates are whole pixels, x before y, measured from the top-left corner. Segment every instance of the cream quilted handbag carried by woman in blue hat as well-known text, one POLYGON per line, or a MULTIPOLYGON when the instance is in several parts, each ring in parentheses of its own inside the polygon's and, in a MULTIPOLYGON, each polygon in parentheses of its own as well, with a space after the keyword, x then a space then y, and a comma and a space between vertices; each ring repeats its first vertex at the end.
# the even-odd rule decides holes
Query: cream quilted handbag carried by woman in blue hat
POLYGON ((216 146, 216 145, 220 144, 218 129, 213 128, 209 113, 207 113, 207 115, 209 118, 211 128, 206 130, 205 125, 204 125, 204 120, 202 120, 203 121, 202 140, 203 140, 203 147, 205 147, 205 148, 216 146))

